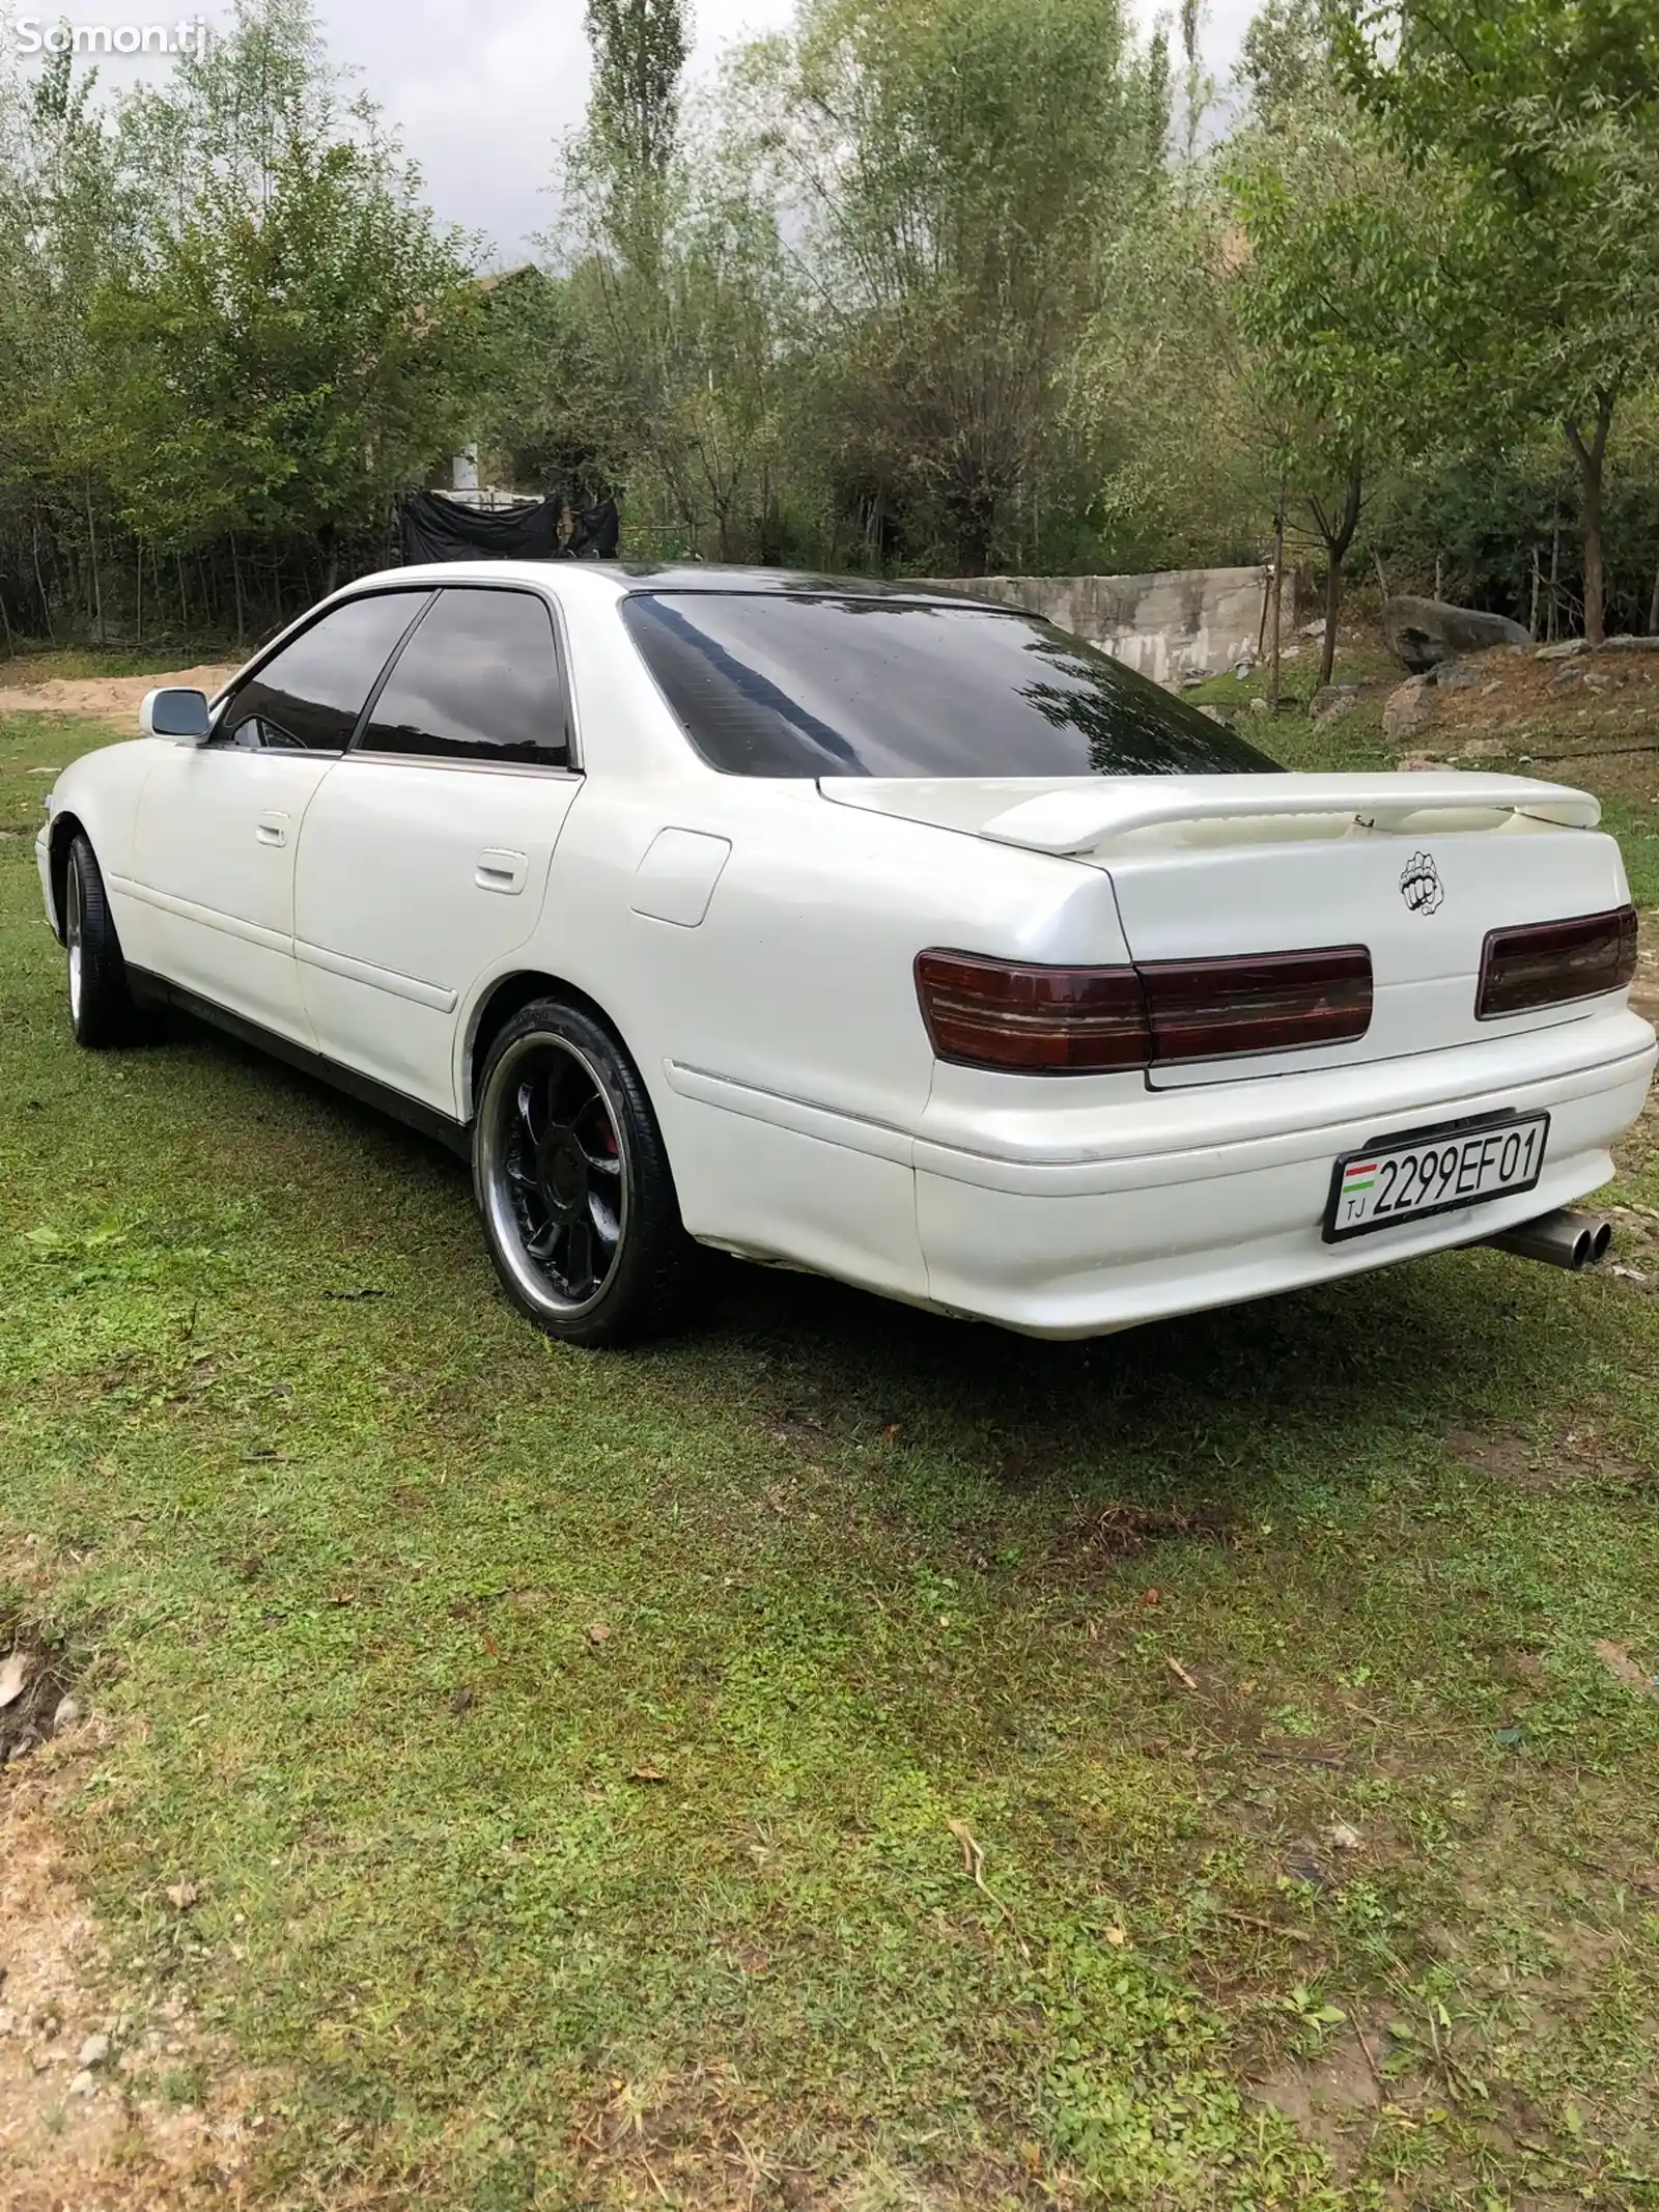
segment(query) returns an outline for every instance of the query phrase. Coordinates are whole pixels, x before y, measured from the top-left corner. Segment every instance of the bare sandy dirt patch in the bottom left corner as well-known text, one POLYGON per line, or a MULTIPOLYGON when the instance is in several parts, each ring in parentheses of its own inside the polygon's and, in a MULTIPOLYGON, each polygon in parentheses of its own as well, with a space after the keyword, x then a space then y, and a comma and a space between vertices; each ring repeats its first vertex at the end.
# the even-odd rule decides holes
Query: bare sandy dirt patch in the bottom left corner
POLYGON ((0 2212, 246 2203, 252 2086, 177 1995, 117 1982, 71 1876, 73 1794, 111 1741, 80 1721, 0 1772, 0 2212))

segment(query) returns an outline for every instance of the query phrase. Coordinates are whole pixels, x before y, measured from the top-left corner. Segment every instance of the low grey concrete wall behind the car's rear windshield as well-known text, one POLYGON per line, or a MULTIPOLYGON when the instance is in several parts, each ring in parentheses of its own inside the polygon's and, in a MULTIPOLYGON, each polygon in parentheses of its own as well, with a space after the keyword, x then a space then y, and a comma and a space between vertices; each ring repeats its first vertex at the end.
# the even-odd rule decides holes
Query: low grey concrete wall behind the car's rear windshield
MULTIPOLYGON (((938 580, 947 591, 1046 615, 1159 684, 1221 675, 1261 641, 1263 568, 1177 568, 1168 575, 982 575, 938 580)), ((1285 575, 1283 650, 1296 650, 1296 584, 1285 575)))

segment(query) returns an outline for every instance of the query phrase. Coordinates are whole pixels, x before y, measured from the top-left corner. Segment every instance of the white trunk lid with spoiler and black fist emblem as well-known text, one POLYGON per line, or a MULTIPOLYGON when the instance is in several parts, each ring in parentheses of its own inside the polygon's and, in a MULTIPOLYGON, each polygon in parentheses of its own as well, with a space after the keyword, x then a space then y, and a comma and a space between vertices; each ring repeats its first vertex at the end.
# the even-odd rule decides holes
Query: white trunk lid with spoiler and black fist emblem
POLYGON ((1553 1004, 1480 1022, 1493 929, 1599 914, 1628 891, 1586 792, 1522 776, 825 779, 823 792, 1110 876, 1137 964, 1365 947, 1365 1037, 1159 1064, 1157 1088, 1391 1060, 1577 1020, 1553 1004))

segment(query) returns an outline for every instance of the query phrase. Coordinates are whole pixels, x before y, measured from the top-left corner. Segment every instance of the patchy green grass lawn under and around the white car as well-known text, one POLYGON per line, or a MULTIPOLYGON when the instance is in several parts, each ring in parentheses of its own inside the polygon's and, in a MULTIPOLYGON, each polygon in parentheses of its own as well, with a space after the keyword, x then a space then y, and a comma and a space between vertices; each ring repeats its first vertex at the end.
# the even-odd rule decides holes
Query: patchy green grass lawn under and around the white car
POLYGON ((91 741, 0 723, 0 1617, 108 1723, 64 1832, 250 2203, 1659 2201, 1644 1283, 1046 1347, 732 1267, 553 1349, 438 1150, 71 1046, 91 741))

